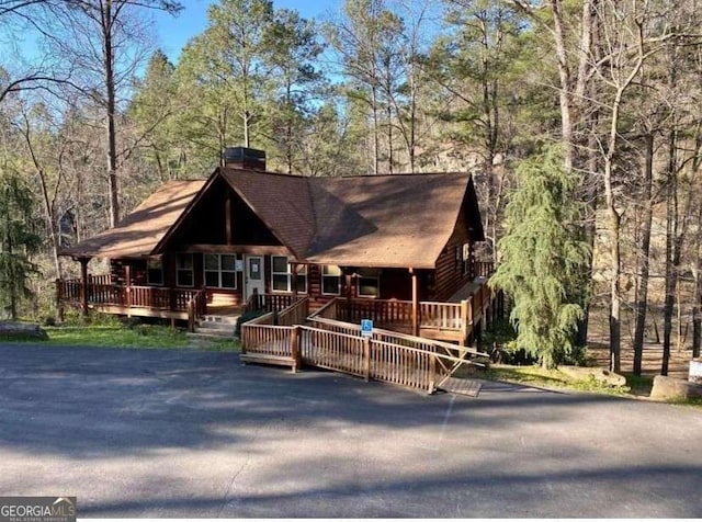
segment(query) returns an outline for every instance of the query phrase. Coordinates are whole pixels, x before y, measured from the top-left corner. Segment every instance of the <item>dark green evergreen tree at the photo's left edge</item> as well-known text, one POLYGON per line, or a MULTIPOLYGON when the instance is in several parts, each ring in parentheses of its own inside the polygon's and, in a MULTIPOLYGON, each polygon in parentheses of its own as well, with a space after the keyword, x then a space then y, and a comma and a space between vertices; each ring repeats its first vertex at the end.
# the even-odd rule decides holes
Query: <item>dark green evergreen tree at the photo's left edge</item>
POLYGON ((0 170, 0 314, 18 317, 18 305, 32 295, 27 286, 36 265, 30 256, 42 245, 41 222, 30 188, 10 169, 0 170))

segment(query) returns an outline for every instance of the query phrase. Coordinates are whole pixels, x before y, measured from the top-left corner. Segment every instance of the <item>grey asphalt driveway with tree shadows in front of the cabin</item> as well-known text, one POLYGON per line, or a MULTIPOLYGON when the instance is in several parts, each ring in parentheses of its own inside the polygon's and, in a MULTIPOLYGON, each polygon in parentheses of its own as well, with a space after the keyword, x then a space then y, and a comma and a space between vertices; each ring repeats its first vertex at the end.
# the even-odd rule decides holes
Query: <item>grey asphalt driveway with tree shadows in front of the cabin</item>
POLYGON ((0 495, 75 495, 81 518, 702 517, 700 410, 195 351, 0 361, 0 495))

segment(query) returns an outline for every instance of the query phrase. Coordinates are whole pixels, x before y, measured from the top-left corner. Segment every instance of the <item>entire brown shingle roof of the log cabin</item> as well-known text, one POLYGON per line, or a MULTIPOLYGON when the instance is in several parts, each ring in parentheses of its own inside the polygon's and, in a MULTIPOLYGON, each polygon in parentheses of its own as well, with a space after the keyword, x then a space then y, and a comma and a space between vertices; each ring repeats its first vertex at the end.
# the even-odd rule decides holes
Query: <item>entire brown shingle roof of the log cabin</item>
MULTIPOLYGON (((482 239, 477 203, 466 173, 303 178, 220 168, 211 181, 217 175, 297 259, 313 263, 434 268, 463 205, 476 228, 475 239, 482 239)), ((167 183, 117 227, 64 253, 148 256, 159 241, 163 243, 159 249, 167 249, 165 236, 173 232, 172 225, 181 215, 180 222, 188 219, 183 211, 205 183, 167 183)))

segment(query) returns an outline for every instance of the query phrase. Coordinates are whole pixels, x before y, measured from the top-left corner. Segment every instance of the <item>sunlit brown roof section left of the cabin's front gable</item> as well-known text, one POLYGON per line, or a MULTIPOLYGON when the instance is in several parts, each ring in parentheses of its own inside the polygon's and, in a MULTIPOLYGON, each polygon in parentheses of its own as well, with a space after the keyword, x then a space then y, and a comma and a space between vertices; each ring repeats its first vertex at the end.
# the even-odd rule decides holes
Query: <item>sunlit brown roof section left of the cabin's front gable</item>
POLYGON ((136 258, 150 254, 205 182, 206 180, 169 181, 116 227, 66 248, 61 254, 98 258, 136 258))

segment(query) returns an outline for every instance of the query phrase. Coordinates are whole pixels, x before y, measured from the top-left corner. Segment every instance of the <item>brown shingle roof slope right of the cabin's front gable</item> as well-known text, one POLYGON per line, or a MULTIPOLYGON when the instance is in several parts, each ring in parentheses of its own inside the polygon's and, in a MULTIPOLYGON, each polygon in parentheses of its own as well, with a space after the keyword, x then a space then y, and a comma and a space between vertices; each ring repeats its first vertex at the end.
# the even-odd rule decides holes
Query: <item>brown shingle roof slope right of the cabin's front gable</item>
POLYGON ((310 179, 318 228, 307 260, 434 268, 468 181, 465 173, 310 179))

